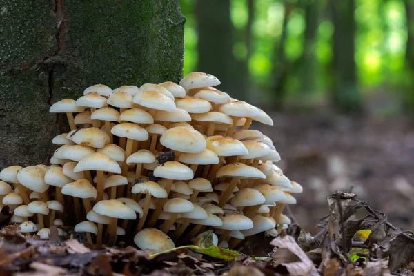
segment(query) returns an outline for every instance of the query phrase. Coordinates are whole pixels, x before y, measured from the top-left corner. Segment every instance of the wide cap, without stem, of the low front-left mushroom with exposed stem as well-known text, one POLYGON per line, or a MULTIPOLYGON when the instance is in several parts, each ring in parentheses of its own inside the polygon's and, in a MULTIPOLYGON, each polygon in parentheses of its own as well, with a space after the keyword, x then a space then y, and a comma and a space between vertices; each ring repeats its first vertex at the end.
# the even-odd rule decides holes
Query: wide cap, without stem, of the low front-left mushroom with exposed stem
POLYGON ((117 219, 137 219, 137 214, 130 206, 116 199, 99 201, 93 206, 93 210, 100 215, 117 219))

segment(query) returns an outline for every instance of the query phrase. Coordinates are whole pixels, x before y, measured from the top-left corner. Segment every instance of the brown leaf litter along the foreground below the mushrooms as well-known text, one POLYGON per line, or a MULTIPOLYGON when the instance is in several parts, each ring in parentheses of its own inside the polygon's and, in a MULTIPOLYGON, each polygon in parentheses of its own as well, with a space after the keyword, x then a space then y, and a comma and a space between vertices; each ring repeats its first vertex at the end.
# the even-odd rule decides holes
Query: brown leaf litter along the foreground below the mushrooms
POLYGON ((55 226, 42 241, 5 226, 6 212, 0 217, 0 275, 412 275, 411 231, 395 228, 351 193, 333 193, 328 209, 315 236, 293 224, 279 237, 250 237, 236 251, 213 245, 207 231, 199 246, 163 253, 84 244, 73 234, 62 240, 55 226))

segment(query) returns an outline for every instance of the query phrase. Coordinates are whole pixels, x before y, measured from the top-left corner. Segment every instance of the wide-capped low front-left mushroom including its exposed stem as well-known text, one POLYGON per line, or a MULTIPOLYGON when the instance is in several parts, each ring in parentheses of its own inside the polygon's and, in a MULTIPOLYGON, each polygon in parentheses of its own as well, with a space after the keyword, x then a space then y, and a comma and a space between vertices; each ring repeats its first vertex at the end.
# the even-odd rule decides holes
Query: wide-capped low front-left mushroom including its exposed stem
POLYGON ((116 199, 99 201, 93 206, 93 210, 99 215, 110 217, 108 246, 115 244, 118 219, 137 219, 135 211, 130 206, 116 199))

